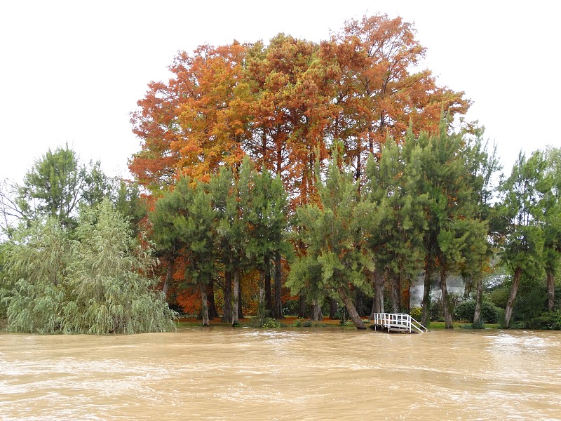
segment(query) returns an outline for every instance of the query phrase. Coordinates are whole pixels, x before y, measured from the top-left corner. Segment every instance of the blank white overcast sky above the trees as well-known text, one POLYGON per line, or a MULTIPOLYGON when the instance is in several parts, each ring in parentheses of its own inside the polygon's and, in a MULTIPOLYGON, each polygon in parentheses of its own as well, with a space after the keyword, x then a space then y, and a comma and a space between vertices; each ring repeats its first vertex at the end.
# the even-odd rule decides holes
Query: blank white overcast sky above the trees
POLYGON ((175 53, 200 44, 320 41, 345 20, 413 22, 441 85, 466 91, 510 173, 523 149, 561 147, 560 6, 551 1, 0 2, 0 178, 22 180, 48 148, 127 175, 140 149, 129 112, 175 53))

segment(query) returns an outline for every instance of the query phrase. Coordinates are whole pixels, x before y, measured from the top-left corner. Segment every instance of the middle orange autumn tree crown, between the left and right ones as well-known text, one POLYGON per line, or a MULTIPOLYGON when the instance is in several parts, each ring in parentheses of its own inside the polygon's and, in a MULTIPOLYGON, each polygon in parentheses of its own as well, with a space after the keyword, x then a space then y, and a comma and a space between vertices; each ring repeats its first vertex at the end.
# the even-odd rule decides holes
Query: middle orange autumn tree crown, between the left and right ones
POLYGON ((252 136, 244 149, 280 175, 295 205, 313 196, 313 166, 327 156, 331 79, 317 53, 317 44, 285 34, 248 50, 252 136))

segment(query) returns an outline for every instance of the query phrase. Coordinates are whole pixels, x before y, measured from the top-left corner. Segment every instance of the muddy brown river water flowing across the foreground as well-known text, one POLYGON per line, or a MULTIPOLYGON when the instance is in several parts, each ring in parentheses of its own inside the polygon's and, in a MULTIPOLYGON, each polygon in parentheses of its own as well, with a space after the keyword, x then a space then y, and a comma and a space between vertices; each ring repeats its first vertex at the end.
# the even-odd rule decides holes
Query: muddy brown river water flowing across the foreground
POLYGON ((559 420, 561 333, 0 333, 1 420, 559 420))

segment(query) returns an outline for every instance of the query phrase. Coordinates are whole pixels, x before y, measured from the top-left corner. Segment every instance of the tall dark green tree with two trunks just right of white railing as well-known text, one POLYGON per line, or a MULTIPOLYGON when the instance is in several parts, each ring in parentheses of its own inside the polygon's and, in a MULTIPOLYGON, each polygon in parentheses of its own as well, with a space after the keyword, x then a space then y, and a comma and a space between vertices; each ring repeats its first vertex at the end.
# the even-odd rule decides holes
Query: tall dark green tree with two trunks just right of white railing
POLYGON ((419 166, 421 175, 414 180, 409 194, 419 198, 426 220, 421 323, 428 322, 431 274, 438 270, 446 327, 452 328, 447 276, 461 272, 468 262, 482 267, 487 250, 487 222, 480 218, 481 180, 474 173, 485 154, 475 153, 462 133, 450 132, 449 123, 443 116, 439 133, 421 133, 408 143, 414 145, 412 163, 419 166))

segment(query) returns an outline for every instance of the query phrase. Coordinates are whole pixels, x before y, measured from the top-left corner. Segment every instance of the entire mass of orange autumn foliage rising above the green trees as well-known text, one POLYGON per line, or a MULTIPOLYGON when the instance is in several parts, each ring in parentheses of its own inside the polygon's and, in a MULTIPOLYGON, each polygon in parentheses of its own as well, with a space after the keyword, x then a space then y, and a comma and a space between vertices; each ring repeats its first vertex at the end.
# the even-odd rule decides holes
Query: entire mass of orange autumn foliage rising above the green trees
POLYGON ((131 114, 141 149, 130 171, 159 196, 180 175, 236 174, 247 154, 281 178, 295 210, 317 201, 315 163, 323 171, 341 143, 360 189, 367 157, 386 138, 404 142, 410 125, 438 131, 442 110, 454 116, 470 105, 418 68, 424 54, 412 24, 387 15, 350 20, 319 43, 278 34, 267 45, 178 53, 169 81, 149 83, 131 114))

